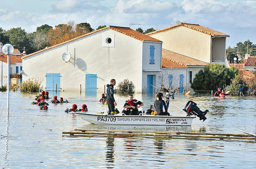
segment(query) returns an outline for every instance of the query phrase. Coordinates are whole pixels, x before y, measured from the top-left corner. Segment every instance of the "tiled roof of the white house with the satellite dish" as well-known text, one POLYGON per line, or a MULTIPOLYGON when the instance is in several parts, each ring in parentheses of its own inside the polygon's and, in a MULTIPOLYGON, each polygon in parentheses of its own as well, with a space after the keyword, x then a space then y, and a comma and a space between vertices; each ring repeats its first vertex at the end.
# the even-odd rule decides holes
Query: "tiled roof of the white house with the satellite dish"
POLYGON ((38 54, 39 52, 43 52, 43 51, 48 50, 48 49, 50 49, 50 48, 58 47, 58 46, 60 46, 60 45, 69 43, 69 42, 71 42, 71 41, 75 41, 76 39, 80 39, 80 38, 82 38, 82 37, 86 37, 86 36, 88 36, 88 35, 91 35, 91 34, 93 34, 93 33, 98 32, 98 31, 102 31, 102 30, 104 30, 104 29, 113 29, 113 30, 115 30, 115 31, 118 31, 118 32, 120 32, 120 33, 123 33, 124 35, 128 35, 128 36, 130 36, 130 37, 134 37, 135 39, 138 39, 138 40, 140 40, 140 41, 156 41, 156 42, 162 42, 162 41, 160 41, 160 40, 158 40, 158 39, 155 39, 155 38, 153 38, 153 37, 149 37, 149 36, 147 36, 147 35, 145 35, 145 34, 143 34, 143 33, 140 33, 140 32, 138 32, 138 31, 134 31, 133 29, 130 29, 130 28, 128 28, 128 27, 107 26, 107 27, 105 27, 105 28, 101 28, 101 29, 98 29, 98 30, 96 30, 96 31, 91 31, 90 33, 86 33, 86 34, 84 34, 84 35, 81 35, 80 37, 76 37, 76 38, 74 38, 74 39, 70 39, 70 40, 65 41, 65 42, 63 42, 63 43, 59 43, 58 45, 54 45, 54 46, 52 46, 52 47, 47 47, 47 48, 44 48, 43 50, 39 50, 39 51, 34 52, 34 53, 32 53, 32 54, 28 54, 28 55, 26 55, 26 56, 22 56, 22 59, 23 59, 23 58, 26 58, 26 57, 29 57, 29 56, 32 56, 32 55, 34 55, 34 54, 38 54))

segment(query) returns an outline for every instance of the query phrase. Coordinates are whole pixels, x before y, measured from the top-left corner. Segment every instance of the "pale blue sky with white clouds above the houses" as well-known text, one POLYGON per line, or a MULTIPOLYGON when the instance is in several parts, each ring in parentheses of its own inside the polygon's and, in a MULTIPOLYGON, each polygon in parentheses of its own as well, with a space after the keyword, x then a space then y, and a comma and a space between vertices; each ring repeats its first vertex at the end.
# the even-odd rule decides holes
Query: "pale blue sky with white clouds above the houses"
POLYGON ((230 35, 226 47, 256 44, 256 0, 0 0, 0 28, 28 33, 74 21, 98 26, 156 30, 177 22, 199 24, 230 35))

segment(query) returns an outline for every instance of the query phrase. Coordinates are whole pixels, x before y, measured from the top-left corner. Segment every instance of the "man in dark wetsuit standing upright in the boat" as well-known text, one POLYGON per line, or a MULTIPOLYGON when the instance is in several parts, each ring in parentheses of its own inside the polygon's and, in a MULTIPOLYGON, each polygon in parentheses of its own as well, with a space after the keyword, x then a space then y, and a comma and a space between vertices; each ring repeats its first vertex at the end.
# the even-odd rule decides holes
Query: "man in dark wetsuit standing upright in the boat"
POLYGON ((114 98, 114 86, 116 85, 116 80, 111 79, 111 84, 107 84, 107 105, 109 107, 109 115, 111 113, 114 115, 115 106, 117 105, 115 98, 114 98))

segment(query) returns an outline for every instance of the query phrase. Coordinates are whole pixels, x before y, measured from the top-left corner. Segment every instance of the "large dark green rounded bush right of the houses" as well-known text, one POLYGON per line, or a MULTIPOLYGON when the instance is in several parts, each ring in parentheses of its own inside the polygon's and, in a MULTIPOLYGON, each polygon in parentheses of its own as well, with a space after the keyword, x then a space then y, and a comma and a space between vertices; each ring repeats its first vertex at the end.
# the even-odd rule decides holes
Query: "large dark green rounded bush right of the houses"
POLYGON ((225 88, 237 74, 238 69, 235 67, 226 68, 220 64, 209 64, 195 75, 191 87, 193 90, 225 88))

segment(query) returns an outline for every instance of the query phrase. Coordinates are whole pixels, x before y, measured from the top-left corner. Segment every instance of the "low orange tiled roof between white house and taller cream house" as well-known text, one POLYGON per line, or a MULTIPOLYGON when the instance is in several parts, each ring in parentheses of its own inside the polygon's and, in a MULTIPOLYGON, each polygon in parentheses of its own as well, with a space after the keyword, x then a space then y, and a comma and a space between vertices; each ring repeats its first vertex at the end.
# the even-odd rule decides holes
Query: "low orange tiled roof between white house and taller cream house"
POLYGON ((190 58, 188 56, 184 56, 182 54, 178 54, 176 52, 171 52, 170 50, 163 49, 162 57, 166 60, 170 60, 175 62, 176 64, 180 64, 182 66, 207 66, 207 62, 203 62, 201 60, 196 60, 194 58, 190 58))

